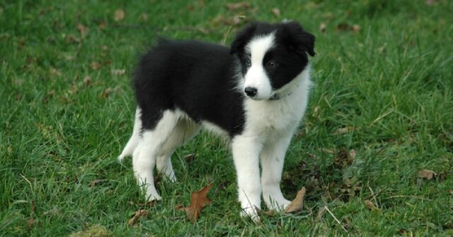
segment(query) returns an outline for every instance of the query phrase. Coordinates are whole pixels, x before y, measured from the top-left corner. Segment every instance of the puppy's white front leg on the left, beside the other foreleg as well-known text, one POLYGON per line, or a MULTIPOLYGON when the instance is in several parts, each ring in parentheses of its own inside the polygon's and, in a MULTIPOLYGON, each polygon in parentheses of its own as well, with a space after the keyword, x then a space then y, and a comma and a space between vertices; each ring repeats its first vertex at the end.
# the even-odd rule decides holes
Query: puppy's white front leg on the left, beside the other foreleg
POLYGON ((263 141, 258 137, 237 136, 232 140, 231 148, 238 176, 241 214, 259 221, 256 207, 261 205, 259 156, 263 141))

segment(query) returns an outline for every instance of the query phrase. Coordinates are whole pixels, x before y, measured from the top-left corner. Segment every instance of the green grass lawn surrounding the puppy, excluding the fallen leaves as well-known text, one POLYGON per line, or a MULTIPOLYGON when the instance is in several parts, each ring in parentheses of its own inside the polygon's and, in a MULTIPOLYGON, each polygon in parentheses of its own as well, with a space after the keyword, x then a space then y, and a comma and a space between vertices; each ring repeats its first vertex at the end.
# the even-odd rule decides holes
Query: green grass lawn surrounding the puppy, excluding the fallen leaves
POLYGON ((116 236, 452 235, 452 1, 225 4, 0 2, 0 235, 67 236, 93 225, 116 236), (123 21, 114 21, 117 9, 123 21), (178 182, 159 182, 163 201, 141 207, 130 159, 115 159, 132 132, 137 55, 156 34, 228 44, 245 24, 231 25, 236 15, 294 19, 317 37, 316 86, 282 181, 288 198, 307 187, 304 209, 258 225, 241 219, 229 149, 210 134, 176 151, 178 182), (342 160, 343 148, 357 155, 342 160), (420 169, 437 177, 419 180, 420 169), (211 180, 213 202, 190 223, 174 207, 211 180), (333 215, 318 214, 325 206, 333 215), (144 208, 151 214, 127 227, 144 208))

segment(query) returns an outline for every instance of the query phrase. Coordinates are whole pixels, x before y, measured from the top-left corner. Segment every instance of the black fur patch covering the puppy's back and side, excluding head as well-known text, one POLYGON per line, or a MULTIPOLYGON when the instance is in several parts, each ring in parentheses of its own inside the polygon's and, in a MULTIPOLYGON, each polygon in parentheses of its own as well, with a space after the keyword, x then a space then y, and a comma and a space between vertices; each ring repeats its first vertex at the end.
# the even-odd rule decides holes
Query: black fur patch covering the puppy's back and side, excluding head
POLYGON ((165 110, 180 109, 230 136, 243 129, 243 94, 235 89, 234 57, 228 48, 192 40, 159 40, 135 73, 143 129, 153 129, 165 110))

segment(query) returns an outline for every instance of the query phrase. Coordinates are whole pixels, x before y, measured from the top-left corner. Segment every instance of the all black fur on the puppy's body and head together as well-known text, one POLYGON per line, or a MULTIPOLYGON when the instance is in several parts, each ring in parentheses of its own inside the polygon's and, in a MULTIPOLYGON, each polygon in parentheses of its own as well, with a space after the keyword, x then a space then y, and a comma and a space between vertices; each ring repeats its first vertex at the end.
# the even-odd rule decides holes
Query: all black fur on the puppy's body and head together
POLYGON ((137 105, 143 129, 154 129, 165 110, 183 110, 195 122, 208 121, 231 137, 241 134, 245 123, 243 100, 237 87, 237 70, 247 67, 245 45, 255 35, 275 31, 276 47, 263 60, 273 88, 294 79, 314 55, 314 36, 298 23, 252 23, 241 30, 230 48, 193 40, 159 40, 142 57, 134 75, 137 105), (239 59, 239 60, 238 60, 239 59))

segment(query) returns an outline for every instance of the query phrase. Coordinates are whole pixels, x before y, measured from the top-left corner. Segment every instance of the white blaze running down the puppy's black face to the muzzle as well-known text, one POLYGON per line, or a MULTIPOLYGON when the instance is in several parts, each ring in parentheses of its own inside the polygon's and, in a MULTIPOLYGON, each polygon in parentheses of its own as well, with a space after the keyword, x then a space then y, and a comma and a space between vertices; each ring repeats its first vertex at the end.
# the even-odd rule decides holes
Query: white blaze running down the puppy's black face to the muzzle
POLYGON ((251 54, 251 67, 246 72, 244 89, 256 88, 258 91, 254 100, 267 100, 272 94, 270 79, 263 68, 264 55, 274 46, 275 33, 254 37, 246 45, 246 52, 251 54))

